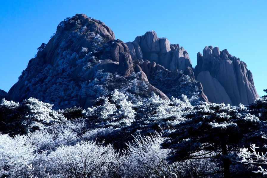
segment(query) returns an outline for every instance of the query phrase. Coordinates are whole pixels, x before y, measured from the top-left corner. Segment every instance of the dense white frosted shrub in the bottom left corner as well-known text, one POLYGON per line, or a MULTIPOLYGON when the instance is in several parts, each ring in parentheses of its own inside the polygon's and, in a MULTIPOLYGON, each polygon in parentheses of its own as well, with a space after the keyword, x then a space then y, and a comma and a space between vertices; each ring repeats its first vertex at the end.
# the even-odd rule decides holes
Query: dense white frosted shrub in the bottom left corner
POLYGON ((0 177, 18 177, 35 158, 26 136, 0 134, 0 177))

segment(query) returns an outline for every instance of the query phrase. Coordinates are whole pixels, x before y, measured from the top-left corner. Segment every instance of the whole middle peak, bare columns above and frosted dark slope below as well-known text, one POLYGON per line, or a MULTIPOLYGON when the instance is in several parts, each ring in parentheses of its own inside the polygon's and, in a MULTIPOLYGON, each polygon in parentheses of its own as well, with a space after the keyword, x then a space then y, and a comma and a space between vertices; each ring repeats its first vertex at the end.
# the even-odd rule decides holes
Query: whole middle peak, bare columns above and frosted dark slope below
POLYGON ((195 81, 189 55, 183 47, 171 44, 167 38, 158 38, 155 31, 148 31, 126 44, 135 72, 144 72, 149 83, 168 97, 179 98, 185 94, 208 101, 202 85, 195 81))

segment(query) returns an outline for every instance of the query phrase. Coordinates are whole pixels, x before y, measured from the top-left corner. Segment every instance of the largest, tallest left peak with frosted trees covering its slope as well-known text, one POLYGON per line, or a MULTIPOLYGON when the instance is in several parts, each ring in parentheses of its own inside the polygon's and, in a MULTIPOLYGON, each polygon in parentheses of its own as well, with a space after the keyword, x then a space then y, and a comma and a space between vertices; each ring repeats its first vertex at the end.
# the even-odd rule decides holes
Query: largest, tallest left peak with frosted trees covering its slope
POLYGON ((53 103, 55 109, 92 105, 115 88, 132 97, 155 92, 146 75, 135 73, 128 46, 115 40, 103 22, 77 14, 57 26, 55 35, 38 48, 19 81, 10 89, 10 100, 35 97, 53 103), (139 92, 136 92, 136 91, 139 92))

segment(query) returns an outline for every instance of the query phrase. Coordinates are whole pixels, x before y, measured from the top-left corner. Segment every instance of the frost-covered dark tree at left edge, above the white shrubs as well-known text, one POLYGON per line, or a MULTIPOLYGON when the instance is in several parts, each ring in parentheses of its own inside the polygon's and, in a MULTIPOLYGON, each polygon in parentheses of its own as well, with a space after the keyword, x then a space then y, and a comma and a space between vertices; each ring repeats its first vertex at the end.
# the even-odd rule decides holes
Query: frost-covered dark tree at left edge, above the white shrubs
POLYGON ((64 115, 52 110, 52 106, 35 98, 21 103, 3 99, 0 102, 0 131, 16 135, 65 122, 67 119, 64 115))

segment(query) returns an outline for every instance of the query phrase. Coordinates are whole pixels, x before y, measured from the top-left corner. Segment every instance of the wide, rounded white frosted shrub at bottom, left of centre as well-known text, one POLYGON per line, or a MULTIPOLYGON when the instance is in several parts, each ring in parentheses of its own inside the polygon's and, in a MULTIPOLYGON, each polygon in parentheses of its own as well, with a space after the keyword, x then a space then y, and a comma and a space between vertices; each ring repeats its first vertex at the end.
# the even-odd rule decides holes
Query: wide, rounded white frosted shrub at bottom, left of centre
POLYGON ((61 146, 48 158, 53 177, 112 177, 118 166, 115 149, 93 141, 61 146))

